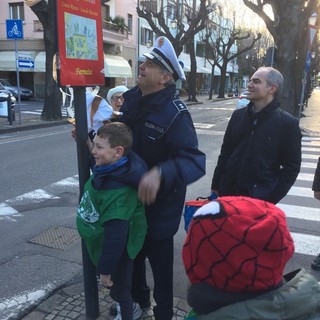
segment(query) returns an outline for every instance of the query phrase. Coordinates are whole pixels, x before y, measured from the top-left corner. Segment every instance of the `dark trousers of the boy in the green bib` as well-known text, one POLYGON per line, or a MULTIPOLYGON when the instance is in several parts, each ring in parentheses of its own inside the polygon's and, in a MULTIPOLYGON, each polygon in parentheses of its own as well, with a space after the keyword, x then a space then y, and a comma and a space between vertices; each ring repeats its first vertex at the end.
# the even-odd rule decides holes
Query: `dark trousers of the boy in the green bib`
POLYGON ((128 257, 127 252, 124 252, 115 274, 111 277, 113 286, 110 287, 110 297, 119 302, 123 320, 133 320, 132 271, 133 260, 128 257))

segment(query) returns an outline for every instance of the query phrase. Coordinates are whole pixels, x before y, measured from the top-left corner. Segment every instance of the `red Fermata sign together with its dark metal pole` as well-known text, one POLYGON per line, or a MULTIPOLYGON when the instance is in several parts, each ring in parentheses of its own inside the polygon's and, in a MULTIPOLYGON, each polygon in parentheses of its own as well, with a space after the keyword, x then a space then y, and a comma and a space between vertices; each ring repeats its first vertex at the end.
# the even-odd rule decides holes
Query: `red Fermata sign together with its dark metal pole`
MULTIPOLYGON (((64 0, 56 3, 59 45, 58 82, 60 86, 73 87, 81 197, 85 182, 90 176, 85 87, 93 84, 103 85, 105 81, 104 74, 101 73, 101 70, 104 69, 101 2, 64 0), (79 12, 85 14, 79 15, 79 12), (66 30, 66 20, 71 26, 68 30, 66 30), (92 23, 93 20, 95 23, 92 23), (79 25, 86 26, 85 33, 75 32, 79 25), (87 34, 89 33, 94 35, 93 42, 88 42, 87 34), (73 43, 74 39, 78 40, 79 45, 68 46, 68 43, 70 41, 73 43)), ((84 241, 82 241, 82 262, 86 316, 89 319, 96 319, 99 315, 96 268, 90 259, 84 241)))

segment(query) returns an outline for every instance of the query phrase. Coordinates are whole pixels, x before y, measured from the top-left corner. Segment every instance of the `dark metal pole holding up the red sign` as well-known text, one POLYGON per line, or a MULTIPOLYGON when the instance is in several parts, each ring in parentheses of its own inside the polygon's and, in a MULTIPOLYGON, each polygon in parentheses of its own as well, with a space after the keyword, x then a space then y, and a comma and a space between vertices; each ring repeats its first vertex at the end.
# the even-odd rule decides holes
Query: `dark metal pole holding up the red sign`
MULTIPOLYGON (((87 146, 87 106, 85 87, 74 87, 74 111, 77 130, 77 155, 80 198, 83 195, 84 185, 90 177, 89 150, 87 146)), ((92 263, 87 248, 82 241, 82 262, 86 315, 89 319, 96 319, 99 316, 99 292, 96 277, 96 268, 92 263)))

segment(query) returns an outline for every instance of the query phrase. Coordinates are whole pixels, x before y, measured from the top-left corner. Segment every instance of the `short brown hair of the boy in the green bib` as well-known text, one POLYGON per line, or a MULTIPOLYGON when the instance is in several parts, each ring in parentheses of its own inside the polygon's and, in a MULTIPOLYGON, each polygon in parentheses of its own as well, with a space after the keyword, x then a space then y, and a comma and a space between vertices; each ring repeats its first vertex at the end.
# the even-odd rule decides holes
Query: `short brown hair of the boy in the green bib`
POLYGON ((132 132, 128 126, 122 122, 110 122, 101 126, 97 132, 100 138, 107 138, 110 146, 115 148, 122 146, 123 155, 127 155, 132 146, 132 132))

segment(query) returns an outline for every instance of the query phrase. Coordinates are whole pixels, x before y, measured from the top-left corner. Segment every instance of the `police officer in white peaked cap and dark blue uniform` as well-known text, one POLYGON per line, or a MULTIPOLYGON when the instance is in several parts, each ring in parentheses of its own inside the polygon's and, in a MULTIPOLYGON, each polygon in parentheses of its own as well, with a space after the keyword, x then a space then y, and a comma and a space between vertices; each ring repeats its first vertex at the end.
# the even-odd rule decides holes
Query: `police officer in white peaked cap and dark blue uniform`
POLYGON ((139 197, 146 205, 148 234, 135 260, 133 299, 150 306, 145 259, 154 278, 156 320, 173 316, 173 237, 184 206, 187 185, 205 174, 205 155, 186 105, 176 96, 175 82, 185 80, 172 44, 166 37, 144 54, 137 86, 123 94, 122 121, 133 133, 133 151, 147 163, 139 197))

